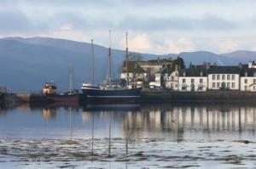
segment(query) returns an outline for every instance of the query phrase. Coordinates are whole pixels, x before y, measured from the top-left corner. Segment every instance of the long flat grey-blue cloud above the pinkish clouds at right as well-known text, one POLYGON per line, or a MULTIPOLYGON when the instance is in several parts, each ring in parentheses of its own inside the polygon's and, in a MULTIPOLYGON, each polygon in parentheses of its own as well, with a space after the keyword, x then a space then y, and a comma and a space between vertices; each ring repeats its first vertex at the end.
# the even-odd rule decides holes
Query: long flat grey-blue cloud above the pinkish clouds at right
POLYGON ((215 15, 204 15, 199 18, 169 16, 163 18, 155 17, 137 17, 133 15, 126 16, 119 21, 119 28, 129 28, 132 30, 207 30, 207 31, 225 31, 236 28, 236 23, 224 20, 215 15))

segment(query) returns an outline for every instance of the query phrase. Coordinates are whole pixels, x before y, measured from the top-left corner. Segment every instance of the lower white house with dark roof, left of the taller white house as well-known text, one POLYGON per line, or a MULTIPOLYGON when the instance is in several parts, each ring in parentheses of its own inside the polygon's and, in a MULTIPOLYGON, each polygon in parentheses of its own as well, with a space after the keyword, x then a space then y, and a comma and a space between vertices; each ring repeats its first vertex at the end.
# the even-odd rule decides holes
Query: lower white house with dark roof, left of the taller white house
POLYGON ((206 68, 187 68, 180 70, 178 77, 179 91, 197 91, 207 90, 207 69, 206 68))

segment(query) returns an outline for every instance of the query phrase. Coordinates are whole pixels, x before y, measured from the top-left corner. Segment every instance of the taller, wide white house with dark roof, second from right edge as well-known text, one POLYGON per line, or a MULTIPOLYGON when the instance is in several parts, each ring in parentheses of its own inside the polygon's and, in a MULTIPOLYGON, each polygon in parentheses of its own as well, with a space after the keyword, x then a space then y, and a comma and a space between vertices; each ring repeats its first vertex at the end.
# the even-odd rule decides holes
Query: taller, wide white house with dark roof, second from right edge
POLYGON ((239 90, 241 66, 213 66, 208 70, 209 90, 239 90))

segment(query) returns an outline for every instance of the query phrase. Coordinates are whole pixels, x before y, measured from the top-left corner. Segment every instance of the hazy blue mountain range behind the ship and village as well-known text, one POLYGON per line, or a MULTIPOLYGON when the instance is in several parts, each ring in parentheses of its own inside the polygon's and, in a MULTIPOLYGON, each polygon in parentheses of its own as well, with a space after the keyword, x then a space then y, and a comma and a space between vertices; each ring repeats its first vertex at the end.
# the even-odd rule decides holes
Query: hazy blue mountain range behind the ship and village
MULTIPOLYGON (((108 48, 94 45, 96 82, 108 77, 108 48)), ((180 54, 137 54, 140 59, 182 57, 185 64, 238 65, 256 59, 256 52, 240 50, 229 54, 207 51, 180 54)), ((38 92, 44 82, 53 80, 60 90, 68 88, 69 67, 73 66, 73 84, 91 81, 91 44, 49 37, 5 37, 0 39, 0 86, 13 92, 38 92)), ((113 76, 119 77, 125 51, 112 50, 113 76)))

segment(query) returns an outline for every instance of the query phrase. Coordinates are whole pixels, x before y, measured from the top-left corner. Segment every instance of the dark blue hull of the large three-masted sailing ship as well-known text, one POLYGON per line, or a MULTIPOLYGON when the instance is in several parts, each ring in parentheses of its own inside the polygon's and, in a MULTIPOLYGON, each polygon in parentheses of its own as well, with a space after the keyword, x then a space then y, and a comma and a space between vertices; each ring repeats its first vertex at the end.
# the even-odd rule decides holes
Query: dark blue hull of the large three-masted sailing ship
POLYGON ((141 88, 122 90, 82 89, 88 104, 139 104, 141 88))

